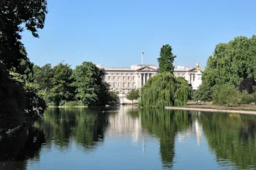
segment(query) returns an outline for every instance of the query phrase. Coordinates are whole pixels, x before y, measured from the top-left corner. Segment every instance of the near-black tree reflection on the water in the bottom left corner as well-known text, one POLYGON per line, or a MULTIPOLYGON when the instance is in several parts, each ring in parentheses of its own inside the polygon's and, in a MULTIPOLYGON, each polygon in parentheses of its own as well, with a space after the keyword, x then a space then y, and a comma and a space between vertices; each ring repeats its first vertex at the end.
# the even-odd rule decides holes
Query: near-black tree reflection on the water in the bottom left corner
POLYGON ((43 143, 43 132, 24 127, 16 136, 0 143, 0 169, 26 169, 29 158, 39 158, 38 151, 43 143))

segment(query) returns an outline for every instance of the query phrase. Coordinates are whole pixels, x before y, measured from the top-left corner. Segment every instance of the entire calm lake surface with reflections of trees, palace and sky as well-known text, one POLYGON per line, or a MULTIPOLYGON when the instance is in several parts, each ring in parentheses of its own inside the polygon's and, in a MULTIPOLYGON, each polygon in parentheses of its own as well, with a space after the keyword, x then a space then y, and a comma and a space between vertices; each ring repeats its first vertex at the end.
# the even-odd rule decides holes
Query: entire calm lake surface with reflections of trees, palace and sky
POLYGON ((0 143, 0 169, 256 169, 256 116, 49 109, 0 143))

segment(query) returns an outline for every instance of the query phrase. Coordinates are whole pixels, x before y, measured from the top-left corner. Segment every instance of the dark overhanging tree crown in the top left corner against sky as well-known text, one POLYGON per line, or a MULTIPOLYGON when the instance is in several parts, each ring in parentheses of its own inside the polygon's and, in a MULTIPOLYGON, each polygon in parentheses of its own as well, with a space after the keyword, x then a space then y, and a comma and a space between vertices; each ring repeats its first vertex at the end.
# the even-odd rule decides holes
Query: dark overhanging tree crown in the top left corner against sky
POLYGON ((18 67, 27 52, 20 41, 24 28, 38 37, 38 29, 44 28, 47 13, 46 0, 2 0, 0 3, 0 61, 7 69, 18 67), (23 27, 24 26, 24 27, 23 27))

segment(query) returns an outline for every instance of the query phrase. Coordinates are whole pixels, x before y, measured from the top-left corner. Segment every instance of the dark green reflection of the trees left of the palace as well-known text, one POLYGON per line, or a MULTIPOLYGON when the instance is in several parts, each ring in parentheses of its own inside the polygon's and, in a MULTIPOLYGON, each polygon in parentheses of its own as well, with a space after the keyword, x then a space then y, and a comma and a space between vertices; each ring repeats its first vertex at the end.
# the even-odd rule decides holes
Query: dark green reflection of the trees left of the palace
POLYGON ((60 148, 69 147, 71 139, 86 149, 95 148, 95 142, 104 138, 107 118, 105 113, 89 109, 49 109, 44 120, 38 122, 49 140, 60 148))

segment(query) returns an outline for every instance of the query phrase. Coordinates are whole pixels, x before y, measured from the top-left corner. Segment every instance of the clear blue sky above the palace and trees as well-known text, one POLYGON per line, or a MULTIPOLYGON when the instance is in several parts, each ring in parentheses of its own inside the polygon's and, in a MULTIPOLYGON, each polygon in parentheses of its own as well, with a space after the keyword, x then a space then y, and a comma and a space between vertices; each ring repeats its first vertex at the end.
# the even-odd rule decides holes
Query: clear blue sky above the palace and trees
POLYGON ((107 67, 157 64, 170 44, 175 65, 204 67, 219 42, 256 33, 255 0, 48 0, 40 38, 23 32, 28 57, 39 66, 61 61, 107 67))

